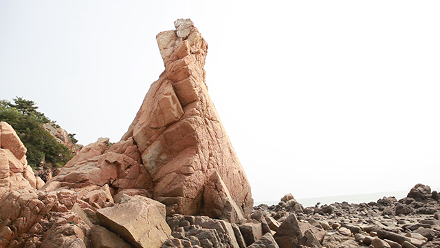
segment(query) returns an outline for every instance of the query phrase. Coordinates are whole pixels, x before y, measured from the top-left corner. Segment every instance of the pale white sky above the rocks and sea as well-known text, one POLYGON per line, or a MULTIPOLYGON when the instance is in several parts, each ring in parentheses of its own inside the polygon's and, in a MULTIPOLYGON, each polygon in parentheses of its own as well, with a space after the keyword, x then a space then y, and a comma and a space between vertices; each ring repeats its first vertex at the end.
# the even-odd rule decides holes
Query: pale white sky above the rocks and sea
POLYGON ((440 186, 439 1, 0 1, 0 99, 117 142, 190 18, 254 200, 440 186))

